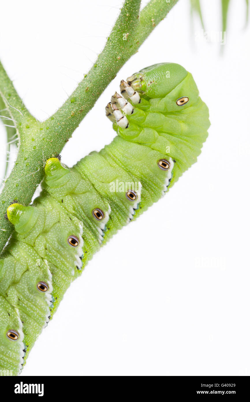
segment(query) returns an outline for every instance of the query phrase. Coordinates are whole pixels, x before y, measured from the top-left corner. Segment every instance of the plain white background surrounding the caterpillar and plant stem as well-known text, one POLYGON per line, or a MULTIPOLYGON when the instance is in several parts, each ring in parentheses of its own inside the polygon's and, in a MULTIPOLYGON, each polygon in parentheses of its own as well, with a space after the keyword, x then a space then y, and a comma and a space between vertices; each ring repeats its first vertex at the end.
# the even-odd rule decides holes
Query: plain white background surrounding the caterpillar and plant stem
MULTIPOLYGON (((2 2, 0 57, 37 119, 51 115, 87 73, 121 4, 2 2)), ((221 31, 220 1, 202 6, 207 31, 221 31)), ((244 24, 245 1, 232 0, 221 56, 220 43, 195 42, 201 26, 195 20, 191 29, 189 1, 180 0, 65 146, 62 161, 72 166, 108 144, 114 131, 105 105, 122 78, 151 64, 183 65, 209 107, 209 137, 197 164, 94 256, 23 375, 250 375, 250 30, 244 24)))

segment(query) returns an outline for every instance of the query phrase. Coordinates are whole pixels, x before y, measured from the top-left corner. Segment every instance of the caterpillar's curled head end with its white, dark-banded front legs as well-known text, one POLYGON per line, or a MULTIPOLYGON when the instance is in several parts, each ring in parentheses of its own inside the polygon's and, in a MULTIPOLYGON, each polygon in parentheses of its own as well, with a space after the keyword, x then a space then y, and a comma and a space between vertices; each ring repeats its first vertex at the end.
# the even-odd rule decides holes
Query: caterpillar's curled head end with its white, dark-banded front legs
POLYGON ((175 163, 171 185, 197 160, 210 125, 192 75, 175 63, 155 64, 122 80, 106 106, 118 135, 175 163))

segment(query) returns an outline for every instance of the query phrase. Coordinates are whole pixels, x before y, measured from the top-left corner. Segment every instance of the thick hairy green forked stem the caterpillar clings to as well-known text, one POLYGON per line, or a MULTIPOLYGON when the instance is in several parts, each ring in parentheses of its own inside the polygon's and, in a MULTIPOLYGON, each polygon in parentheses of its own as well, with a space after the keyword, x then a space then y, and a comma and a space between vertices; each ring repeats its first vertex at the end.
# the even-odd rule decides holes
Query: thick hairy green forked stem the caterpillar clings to
POLYGON ((96 63, 66 102, 43 123, 30 116, 3 70, 0 92, 4 92, 5 103, 15 108, 10 110, 18 122, 20 147, 15 166, 0 195, 0 251, 13 230, 10 222, 4 219, 8 205, 13 200, 23 205, 30 203, 37 185, 43 179, 44 162, 61 152, 106 86, 177 1, 151 0, 141 11, 139 19, 140 0, 126 0, 96 63), (6 88, 10 88, 10 91, 6 88), (10 95, 10 98, 6 95, 10 95))

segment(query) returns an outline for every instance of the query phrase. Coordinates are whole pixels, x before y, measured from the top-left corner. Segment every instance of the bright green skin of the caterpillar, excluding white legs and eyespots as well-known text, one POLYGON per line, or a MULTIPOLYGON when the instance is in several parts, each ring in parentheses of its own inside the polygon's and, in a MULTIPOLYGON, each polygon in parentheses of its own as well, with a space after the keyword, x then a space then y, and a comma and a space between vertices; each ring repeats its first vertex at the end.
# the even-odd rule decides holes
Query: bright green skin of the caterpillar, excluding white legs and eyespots
MULTIPOLYGON (((100 152, 73 168, 47 160, 41 195, 33 206, 12 204, 14 236, 0 259, 0 370, 18 375, 35 340, 53 316, 70 283, 112 236, 158 201, 197 160, 207 138, 209 113, 193 77, 178 64, 150 66, 134 74, 140 103, 127 115, 128 128, 100 152), (177 99, 188 96, 182 106, 177 99), (169 148, 167 148, 169 147, 169 148), (166 150, 168 152, 166 152, 166 150), (160 159, 171 168, 162 170, 160 159), (110 183, 138 183, 137 199, 110 191, 110 183), (167 185, 167 187, 166 187, 167 185), (92 214, 99 208, 104 219, 92 214), (76 236, 78 246, 67 239, 76 236), (37 284, 47 284, 47 292, 37 284), (6 336, 18 333, 17 340, 6 336)), ((131 188, 132 189, 132 188, 131 188)))

